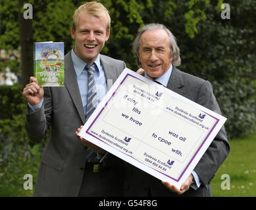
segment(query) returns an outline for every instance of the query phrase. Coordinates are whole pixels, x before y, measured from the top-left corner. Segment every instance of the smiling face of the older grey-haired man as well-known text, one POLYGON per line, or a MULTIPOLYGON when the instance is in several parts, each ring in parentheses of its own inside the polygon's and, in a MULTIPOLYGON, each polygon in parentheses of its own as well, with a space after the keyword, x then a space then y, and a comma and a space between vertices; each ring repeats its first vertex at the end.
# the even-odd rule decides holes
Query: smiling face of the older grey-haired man
POLYGON ((170 45, 165 30, 147 30, 140 37, 139 60, 149 77, 156 79, 170 68, 170 45))

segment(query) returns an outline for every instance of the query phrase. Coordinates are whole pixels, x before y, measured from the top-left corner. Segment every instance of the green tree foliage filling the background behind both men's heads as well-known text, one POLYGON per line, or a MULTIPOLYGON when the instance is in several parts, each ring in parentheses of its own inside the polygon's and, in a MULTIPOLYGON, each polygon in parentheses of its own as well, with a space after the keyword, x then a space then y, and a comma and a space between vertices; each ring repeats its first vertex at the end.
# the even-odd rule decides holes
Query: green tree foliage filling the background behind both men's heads
MULTIPOLYGON (((253 132, 256 127, 254 0, 225 2, 230 5, 231 18, 224 20, 220 15, 222 0, 100 2, 109 9, 112 19, 111 37, 103 54, 124 60, 128 68, 136 70, 139 66, 132 53, 132 42, 138 29, 150 22, 165 24, 180 47, 179 68, 213 84, 222 114, 228 118, 225 124, 228 136, 253 132)), ((33 41, 63 41, 66 53, 70 51, 74 45, 70 37, 72 15, 84 1, 27 3, 33 5, 33 41)), ((0 49, 18 49, 17 1, 2 0, 0 15, 0 49)), ((14 72, 18 72, 17 66, 13 64, 14 72)))

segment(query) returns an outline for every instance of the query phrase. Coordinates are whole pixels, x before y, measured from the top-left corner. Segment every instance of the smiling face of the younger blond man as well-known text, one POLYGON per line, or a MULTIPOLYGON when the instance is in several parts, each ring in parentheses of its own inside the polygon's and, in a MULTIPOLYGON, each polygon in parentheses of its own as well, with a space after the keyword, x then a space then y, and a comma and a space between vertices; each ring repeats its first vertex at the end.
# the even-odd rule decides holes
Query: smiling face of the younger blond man
POLYGON ((75 40, 74 53, 91 64, 109 39, 105 18, 93 16, 88 12, 80 12, 76 22, 76 30, 71 29, 72 39, 75 40))

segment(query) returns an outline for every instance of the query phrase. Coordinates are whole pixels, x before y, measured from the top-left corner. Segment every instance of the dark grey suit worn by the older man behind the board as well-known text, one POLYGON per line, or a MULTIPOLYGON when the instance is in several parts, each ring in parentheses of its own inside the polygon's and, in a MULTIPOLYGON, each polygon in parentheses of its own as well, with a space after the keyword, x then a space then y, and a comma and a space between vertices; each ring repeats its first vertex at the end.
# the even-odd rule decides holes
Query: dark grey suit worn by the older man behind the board
MULTIPOLYGON (((167 88, 221 114, 209 81, 181 72, 173 66, 167 88)), ((230 145, 225 129, 222 127, 194 169, 201 180, 201 186, 197 190, 190 188, 182 196, 211 196, 211 179, 228 156, 229 151, 230 145)), ((178 196, 165 188, 161 180, 132 165, 126 164, 125 175, 125 196, 147 196, 149 190, 151 196, 178 196)))

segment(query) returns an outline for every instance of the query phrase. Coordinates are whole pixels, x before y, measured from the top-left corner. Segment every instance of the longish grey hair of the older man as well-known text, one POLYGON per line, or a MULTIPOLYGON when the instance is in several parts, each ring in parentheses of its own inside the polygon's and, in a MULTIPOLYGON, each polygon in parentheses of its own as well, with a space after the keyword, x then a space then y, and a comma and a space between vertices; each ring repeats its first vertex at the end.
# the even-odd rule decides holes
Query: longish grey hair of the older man
POLYGON ((170 30, 168 30, 168 28, 166 28, 166 26, 164 26, 163 24, 147 24, 145 26, 143 26, 143 28, 141 28, 141 30, 138 32, 135 40, 134 40, 134 53, 137 56, 137 62, 138 64, 140 64, 140 54, 139 54, 139 50, 140 50, 140 37, 142 35, 142 33, 144 33, 145 31, 148 30, 159 30, 159 29, 163 29, 166 31, 166 33, 168 34, 169 37, 169 45, 170 45, 170 58, 173 56, 172 59, 172 64, 174 66, 180 66, 180 49, 176 43, 176 38, 174 37, 174 35, 172 34, 172 32, 170 32, 170 30))

